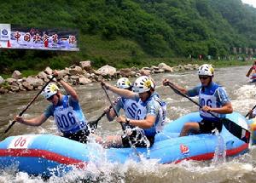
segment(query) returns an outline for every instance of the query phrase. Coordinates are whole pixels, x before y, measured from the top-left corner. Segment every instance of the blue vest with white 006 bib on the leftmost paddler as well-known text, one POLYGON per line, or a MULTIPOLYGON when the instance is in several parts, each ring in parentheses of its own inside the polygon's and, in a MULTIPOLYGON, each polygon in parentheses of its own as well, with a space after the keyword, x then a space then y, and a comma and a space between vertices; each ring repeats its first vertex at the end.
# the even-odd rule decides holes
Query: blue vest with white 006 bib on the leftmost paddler
POLYGON ((62 98, 62 106, 54 106, 55 123, 58 129, 64 134, 73 134, 81 129, 87 129, 87 122, 85 120, 82 110, 73 110, 69 106, 69 96, 64 95, 62 98))

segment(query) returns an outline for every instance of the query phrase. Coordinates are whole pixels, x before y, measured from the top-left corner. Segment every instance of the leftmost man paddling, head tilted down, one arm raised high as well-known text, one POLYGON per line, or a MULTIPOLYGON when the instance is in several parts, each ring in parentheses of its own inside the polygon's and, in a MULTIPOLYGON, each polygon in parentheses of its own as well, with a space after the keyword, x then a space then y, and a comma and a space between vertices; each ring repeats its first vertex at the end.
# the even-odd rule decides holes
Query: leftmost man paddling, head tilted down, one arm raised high
POLYGON ((53 74, 67 94, 61 94, 55 83, 49 83, 42 92, 44 99, 51 103, 44 113, 30 119, 16 116, 15 120, 30 126, 40 126, 52 116, 64 137, 86 143, 90 129, 79 105, 79 96, 68 83, 58 77, 58 71, 53 71, 53 74))

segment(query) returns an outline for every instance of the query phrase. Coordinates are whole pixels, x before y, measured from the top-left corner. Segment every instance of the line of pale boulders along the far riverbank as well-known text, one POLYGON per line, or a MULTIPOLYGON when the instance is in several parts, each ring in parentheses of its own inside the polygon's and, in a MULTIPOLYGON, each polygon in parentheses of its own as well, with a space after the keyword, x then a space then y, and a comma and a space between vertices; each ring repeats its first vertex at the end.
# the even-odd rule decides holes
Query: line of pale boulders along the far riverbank
MULTIPOLYGON (((119 77, 139 77, 143 75, 154 75, 163 72, 176 71, 193 71, 198 69, 198 65, 185 66, 167 66, 160 63, 158 66, 136 67, 120 69, 119 71, 113 66, 102 66, 98 70, 94 70, 90 60, 81 61, 79 66, 70 66, 59 71, 60 77, 72 85, 87 84, 102 81, 102 79, 118 79, 119 77)), ((52 75, 52 69, 47 67, 44 71, 40 71, 37 76, 22 77, 20 71, 14 71, 12 77, 3 79, 0 76, 0 94, 15 93, 19 91, 30 91, 42 89, 44 83, 49 81, 52 75)))

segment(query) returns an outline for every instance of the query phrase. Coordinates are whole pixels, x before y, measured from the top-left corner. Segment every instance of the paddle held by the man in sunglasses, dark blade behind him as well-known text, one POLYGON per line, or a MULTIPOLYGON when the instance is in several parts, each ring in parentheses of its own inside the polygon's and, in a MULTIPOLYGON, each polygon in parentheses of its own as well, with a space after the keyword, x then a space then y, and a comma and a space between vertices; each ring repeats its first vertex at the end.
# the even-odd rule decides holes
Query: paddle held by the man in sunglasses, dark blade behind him
MULTIPOLYGON (((175 87, 172 86, 172 83, 168 82, 167 85, 173 89, 177 94, 182 95, 183 97, 187 98, 188 100, 192 101, 196 106, 199 106, 202 108, 202 106, 197 103, 195 100, 192 100, 187 94, 183 94, 181 91, 176 89, 175 87)), ((236 124, 235 122, 231 121, 228 118, 220 118, 213 114, 212 112, 209 112, 213 117, 219 118, 224 124, 224 127, 230 131, 231 134, 236 136, 238 139, 249 143, 250 140, 250 132, 247 129, 243 129, 240 125, 236 124)))

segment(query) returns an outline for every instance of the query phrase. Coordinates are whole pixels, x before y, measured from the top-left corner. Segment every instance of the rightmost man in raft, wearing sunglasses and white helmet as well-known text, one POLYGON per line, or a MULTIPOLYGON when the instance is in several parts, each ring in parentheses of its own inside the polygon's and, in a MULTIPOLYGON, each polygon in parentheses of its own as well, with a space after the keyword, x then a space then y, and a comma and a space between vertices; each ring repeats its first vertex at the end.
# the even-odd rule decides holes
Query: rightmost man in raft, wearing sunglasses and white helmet
POLYGON ((202 106, 200 109, 201 122, 185 123, 180 136, 186 136, 190 132, 208 134, 213 133, 218 129, 222 129, 220 118, 224 118, 225 114, 232 113, 233 108, 230 99, 223 87, 214 83, 214 69, 211 65, 204 64, 199 67, 198 77, 201 84, 194 89, 184 89, 183 87, 172 83, 168 79, 163 81, 163 85, 172 84, 172 87, 179 90, 183 94, 190 97, 199 96, 199 103, 202 106), (212 112, 217 117, 213 117, 209 112, 212 112))

